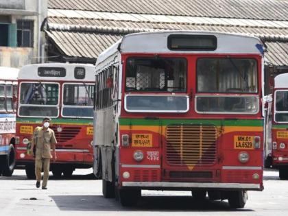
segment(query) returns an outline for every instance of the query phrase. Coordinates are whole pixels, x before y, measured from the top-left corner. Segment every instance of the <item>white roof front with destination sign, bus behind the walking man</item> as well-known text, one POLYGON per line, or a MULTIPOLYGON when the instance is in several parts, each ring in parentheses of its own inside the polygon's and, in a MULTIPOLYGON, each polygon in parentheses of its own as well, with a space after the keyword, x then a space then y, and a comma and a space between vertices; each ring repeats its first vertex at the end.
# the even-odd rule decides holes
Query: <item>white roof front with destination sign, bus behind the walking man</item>
POLYGON ((20 69, 18 79, 95 82, 95 66, 68 63, 27 64, 20 69))

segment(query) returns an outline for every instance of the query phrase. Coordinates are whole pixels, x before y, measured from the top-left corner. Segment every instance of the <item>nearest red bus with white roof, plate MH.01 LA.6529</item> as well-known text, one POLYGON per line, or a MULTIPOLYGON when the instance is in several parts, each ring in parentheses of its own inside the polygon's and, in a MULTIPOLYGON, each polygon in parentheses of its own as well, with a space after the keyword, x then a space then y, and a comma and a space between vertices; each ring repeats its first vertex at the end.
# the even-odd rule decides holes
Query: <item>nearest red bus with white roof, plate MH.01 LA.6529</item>
POLYGON ((192 191, 243 208, 263 190, 263 43, 219 32, 124 36, 96 62, 94 173, 104 197, 192 191))

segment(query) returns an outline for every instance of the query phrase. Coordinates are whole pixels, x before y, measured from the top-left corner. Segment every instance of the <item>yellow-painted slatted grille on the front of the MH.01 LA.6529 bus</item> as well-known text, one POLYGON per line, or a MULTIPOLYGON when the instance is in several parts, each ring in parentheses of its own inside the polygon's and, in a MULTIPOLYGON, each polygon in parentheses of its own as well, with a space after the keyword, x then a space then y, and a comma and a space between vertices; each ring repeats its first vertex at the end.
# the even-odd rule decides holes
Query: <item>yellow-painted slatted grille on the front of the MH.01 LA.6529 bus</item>
POLYGON ((168 125, 166 155, 170 165, 211 165, 216 158, 214 125, 168 125))

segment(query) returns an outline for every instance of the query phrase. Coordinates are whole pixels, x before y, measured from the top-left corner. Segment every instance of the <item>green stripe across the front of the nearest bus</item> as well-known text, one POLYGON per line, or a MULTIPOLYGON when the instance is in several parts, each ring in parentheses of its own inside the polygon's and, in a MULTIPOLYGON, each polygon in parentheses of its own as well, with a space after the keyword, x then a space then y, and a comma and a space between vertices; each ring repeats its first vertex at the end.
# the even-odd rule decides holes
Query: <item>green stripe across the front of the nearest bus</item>
POLYGON ((263 126, 263 119, 119 119, 120 125, 169 125, 173 123, 213 123, 216 126, 263 126))

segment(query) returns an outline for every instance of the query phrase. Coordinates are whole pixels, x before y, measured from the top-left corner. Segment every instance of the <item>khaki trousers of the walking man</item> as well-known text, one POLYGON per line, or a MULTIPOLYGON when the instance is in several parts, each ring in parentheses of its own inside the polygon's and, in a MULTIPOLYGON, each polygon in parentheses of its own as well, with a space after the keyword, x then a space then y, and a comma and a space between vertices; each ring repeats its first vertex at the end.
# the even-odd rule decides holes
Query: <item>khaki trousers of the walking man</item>
POLYGON ((49 169, 50 169, 50 158, 36 158, 35 160, 35 176, 37 182, 40 182, 41 180, 41 171, 43 167, 43 182, 42 187, 47 187, 47 181, 49 178, 49 169))

